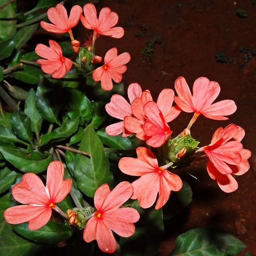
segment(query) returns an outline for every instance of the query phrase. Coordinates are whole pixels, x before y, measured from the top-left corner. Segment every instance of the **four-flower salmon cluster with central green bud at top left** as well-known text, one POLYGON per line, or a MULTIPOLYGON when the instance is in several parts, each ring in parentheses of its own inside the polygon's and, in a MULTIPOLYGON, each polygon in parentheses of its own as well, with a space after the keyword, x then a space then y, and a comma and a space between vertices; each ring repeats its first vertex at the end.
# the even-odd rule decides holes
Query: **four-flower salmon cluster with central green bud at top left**
MULTIPOLYGON (((66 72, 71 69, 72 64, 78 68, 83 68, 81 62, 88 62, 90 64, 102 62, 102 57, 96 56, 94 53, 95 41, 99 35, 113 38, 121 38, 124 36, 124 29, 120 26, 115 26, 118 22, 118 15, 107 7, 100 11, 98 18, 95 6, 92 3, 85 4, 83 9, 79 5, 73 6, 69 17, 63 4, 57 4, 56 7, 52 7, 48 10, 47 15, 52 24, 42 21, 42 28, 52 33, 68 32, 72 49, 75 53, 78 53, 78 58, 80 58, 78 63, 73 63, 71 59, 63 56, 59 44, 53 40, 49 41, 50 47, 38 44, 35 51, 37 55, 43 59, 38 59, 37 63, 42 65, 42 70, 45 73, 52 74, 53 78, 64 77, 66 72), (93 35, 90 36, 89 40, 84 44, 84 48, 89 52, 87 57, 81 54, 84 48, 80 47, 80 42, 75 40, 72 33, 72 28, 74 28, 79 21, 82 22, 86 29, 93 30, 93 35)), ((112 79, 116 83, 121 82, 122 75, 127 69, 125 64, 127 64, 130 59, 131 57, 128 52, 118 55, 117 49, 111 48, 106 52, 102 66, 95 68, 94 65, 90 65, 89 68, 88 65, 86 65, 84 71, 93 71, 93 79, 96 82, 100 81, 103 90, 109 91, 113 88, 112 79)))

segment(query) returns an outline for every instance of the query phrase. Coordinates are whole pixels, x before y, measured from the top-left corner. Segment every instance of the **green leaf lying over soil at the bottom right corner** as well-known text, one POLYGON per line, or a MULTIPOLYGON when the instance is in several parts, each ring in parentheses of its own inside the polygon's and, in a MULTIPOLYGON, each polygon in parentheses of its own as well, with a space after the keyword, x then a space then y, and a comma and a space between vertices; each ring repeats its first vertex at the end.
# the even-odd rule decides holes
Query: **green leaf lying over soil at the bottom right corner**
POLYGON ((178 236, 175 248, 169 256, 237 256, 245 248, 246 244, 231 234, 194 228, 178 236))

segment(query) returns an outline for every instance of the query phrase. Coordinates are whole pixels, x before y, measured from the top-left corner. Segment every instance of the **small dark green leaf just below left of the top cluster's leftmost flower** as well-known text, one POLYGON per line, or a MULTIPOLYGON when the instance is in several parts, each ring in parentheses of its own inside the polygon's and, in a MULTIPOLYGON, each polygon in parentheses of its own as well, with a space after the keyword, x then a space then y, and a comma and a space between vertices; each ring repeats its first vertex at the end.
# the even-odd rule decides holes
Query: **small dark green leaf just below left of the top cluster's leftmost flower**
POLYGON ((15 79, 28 84, 37 84, 39 82, 40 76, 43 75, 41 69, 36 66, 24 64, 19 71, 12 73, 15 79))

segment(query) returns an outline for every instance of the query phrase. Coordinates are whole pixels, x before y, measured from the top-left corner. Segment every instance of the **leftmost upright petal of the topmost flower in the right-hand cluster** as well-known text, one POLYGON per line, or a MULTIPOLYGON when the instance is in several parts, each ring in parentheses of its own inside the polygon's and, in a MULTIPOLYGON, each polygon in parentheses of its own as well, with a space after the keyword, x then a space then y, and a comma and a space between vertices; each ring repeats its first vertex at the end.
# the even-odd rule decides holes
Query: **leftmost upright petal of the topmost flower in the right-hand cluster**
POLYGON ((185 112, 193 112, 192 95, 185 78, 177 78, 174 86, 178 94, 178 97, 174 97, 176 104, 185 112))

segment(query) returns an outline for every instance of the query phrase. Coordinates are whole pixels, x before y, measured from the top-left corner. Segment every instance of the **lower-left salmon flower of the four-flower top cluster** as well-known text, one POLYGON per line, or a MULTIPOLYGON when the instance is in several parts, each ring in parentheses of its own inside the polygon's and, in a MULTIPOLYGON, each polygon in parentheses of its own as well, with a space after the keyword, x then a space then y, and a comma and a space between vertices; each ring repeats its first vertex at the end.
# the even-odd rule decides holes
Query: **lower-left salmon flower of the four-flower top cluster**
POLYGON ((40 57, 37 63, 41 64, 42 70, 46 74, 52 74, 53 78, 62 78, 66 71, 69 71, 72 66, 72 60, 62 56, 62 49, 59 44, 53 40, 49 40, 50 47, 44 44, 38 44, 35 52, 40 57))

